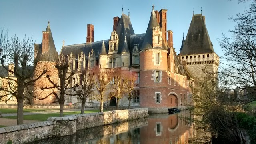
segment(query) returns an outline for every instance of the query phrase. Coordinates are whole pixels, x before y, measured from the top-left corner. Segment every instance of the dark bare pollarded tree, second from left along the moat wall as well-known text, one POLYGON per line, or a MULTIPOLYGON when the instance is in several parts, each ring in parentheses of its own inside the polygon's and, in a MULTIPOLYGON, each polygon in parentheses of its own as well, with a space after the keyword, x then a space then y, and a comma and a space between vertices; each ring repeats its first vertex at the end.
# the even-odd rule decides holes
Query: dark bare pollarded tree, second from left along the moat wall
POLYGON ((64 58, 63 55, 58 57, 58 61, 54 63, 54 67, 56 68, 58 80, 54 78, 54 76, 47 75, 46 78, 52 84, 52 86, 42 87, 41 90, 51 89, 52 93, 58 101, 60 105, 60 116, 64 116, 64 102, 65 102, 65 95, 72 95, 68 94, 67 91, 71 90, 78 86, 78 84, 72 85, 73 75, 75 74, 73 70, 68 72, 68 68, 70 67, 70 62, 64 58), (57 90, 54 90, 54 89, 57 90), (58 92, 60 92, 58 96, 58 92))

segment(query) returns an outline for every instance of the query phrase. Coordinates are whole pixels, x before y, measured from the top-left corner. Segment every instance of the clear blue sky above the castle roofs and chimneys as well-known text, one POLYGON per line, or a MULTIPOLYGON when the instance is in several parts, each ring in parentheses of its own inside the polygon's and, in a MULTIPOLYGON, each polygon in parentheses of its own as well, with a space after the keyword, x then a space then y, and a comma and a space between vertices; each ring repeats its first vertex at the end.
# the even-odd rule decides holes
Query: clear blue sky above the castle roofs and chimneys
POLYGON ((94 40, 105 40, 113 30, 113 17, 128 15, 135 34, 145 33, 152 11, 168 9, 167 29, 173 31, 174 48, 177 54, 186 36, 194 14, 206 16, 206 27, 215 52, 221 56, 218 38, 222 33, 229 35, 235 23, 229 16, 243 13, 248 3, 238 4, 238 0, 0 0, 0 27, 8 29, 8 36, 20 38, 31 36, 40 44, 42 31, 46 30, 48 20, 54 43, 58 52, 65 45, 86 42, 86 25, 94 25, 94 40))

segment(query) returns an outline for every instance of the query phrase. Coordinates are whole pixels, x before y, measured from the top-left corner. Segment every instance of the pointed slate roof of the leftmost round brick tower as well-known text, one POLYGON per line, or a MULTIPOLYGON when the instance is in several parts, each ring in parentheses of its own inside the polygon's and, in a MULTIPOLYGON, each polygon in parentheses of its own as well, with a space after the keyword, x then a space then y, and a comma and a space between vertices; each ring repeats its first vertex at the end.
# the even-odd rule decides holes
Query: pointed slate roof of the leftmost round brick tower
POLYGON ((41 44, 35 44, 35 50, 38 51, 38 56, 40 56, 41 61, 51 61, 55 62, 58 60, 58 52, 56 51, 54 40, 52 37, 52 31, 50 28, 50 22, 48 22, 48 26, 45 30, 46 32, 49 32, 49 48, 48 52, 44 52, 42 54, 42 42, 41 44))

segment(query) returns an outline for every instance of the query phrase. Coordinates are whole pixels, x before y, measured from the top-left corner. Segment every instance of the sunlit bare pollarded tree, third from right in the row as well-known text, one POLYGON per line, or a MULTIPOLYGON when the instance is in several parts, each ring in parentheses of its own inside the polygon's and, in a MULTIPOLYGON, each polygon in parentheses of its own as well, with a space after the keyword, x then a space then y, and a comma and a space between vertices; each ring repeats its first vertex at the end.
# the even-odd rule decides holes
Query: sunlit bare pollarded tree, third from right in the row
POLYGON ((95 69, 95 76, 96 78, 94 81, 94 85, 96 88, 96 94, 94 94, 94 98, 98 100, 98 102, 100 102, 100 112, 103 112, 104 102, 110 100, 110 97, 108 96, 108 94, 106 94, 108 90, 110 90, 110 80, 106 72, 104 72, 104 70, 100 68, 95 69))

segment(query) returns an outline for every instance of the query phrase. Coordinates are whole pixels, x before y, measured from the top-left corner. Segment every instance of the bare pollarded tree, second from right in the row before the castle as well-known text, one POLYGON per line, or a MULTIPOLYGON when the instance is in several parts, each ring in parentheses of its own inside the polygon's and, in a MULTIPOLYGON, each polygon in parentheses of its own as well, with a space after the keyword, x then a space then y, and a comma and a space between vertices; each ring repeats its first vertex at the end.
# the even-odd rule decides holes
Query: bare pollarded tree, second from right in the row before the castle
POLYGON ((126 92, 127 72, 128 71, 124 70, 116 70, 112 73, 112 81, 110 84, 112 85, 112 94, 116 97, 116 110, 119 109, 119 101, 126 92))

